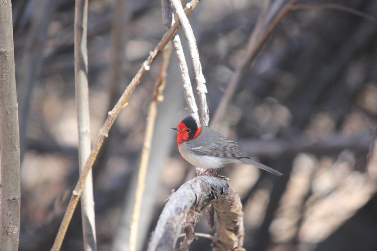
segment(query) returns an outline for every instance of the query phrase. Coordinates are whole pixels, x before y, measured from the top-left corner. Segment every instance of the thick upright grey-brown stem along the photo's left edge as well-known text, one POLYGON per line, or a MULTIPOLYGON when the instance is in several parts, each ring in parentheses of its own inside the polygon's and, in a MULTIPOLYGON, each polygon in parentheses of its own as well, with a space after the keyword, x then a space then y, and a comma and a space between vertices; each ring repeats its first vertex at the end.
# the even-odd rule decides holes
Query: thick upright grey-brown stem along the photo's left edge
POLYGON ((11 1, 0 6, 0 250, 17 251, 20 238, 20 134, 11 1))

